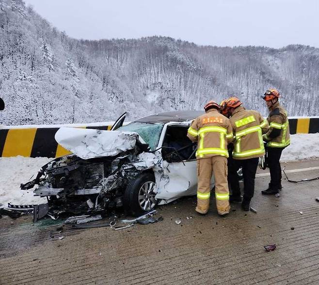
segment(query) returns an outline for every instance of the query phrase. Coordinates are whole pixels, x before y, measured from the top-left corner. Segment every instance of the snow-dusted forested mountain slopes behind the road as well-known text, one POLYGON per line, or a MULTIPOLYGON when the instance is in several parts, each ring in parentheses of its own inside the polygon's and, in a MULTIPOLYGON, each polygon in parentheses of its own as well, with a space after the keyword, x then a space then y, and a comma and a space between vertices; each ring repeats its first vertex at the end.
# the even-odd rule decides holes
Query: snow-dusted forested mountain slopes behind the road
MULTIPOLYGON (((209 35, 207 35, 209 36, 209 35)), ((168 37, 87 41, 52 27, 23 0, 0 0, 0 123, 52 124, 202 110, 239 96, 266 114, 277 88, 292 115, 319 114, 319 49, 212 47, 168 37)))

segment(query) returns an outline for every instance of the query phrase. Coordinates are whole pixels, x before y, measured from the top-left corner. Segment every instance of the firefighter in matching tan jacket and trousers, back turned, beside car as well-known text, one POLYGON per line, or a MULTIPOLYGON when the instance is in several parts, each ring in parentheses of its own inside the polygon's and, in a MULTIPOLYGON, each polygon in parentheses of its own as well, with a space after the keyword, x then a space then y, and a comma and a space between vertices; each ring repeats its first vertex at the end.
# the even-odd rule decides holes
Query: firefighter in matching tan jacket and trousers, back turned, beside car
POLYGON ((195 210, 206 214, 209 208, 210 181, 214 174, 215 198, 218 214, 229 213, 227 184, 227 144, 233 140, 233 129, 228 118, 219 113, 220 106, 209 101, 205 114, 197 117, 188 129, 187 136, 198 141, 197 158, 197 206, 195 210))

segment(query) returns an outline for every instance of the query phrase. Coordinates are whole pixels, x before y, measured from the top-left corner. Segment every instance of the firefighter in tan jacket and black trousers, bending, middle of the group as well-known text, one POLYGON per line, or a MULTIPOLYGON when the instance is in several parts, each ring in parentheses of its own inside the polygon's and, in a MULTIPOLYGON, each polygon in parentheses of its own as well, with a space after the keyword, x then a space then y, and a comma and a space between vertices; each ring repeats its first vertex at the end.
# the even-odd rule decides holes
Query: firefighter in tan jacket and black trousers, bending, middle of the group
POLYGON ((260 113, 246 110, 240 100, 230 97, 223 103, 223 110, 230 116, 234 133, 233 163, 229 176, 232 196, 230 202, 241 202, 244 211, 249 211, 255 192, 255 174, 259 157, 265 155, 262 134, 268 130, 268 121, 260 113), (241 201, 237 171, 242 168, 244 195, 241 201), (236 175, 235 175, 236 173, 236 175))

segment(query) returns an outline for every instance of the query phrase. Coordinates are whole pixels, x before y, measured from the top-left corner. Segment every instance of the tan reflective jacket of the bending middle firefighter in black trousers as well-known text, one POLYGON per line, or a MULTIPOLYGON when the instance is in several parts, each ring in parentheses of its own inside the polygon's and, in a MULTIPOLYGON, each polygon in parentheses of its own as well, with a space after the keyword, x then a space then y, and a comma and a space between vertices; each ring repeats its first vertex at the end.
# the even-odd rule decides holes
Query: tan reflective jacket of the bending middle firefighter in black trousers
POLYGON ((249 159, 265 155, 262 134, 268 130, 268 121, 260 113, 239 106, 230 122, 235 136, 233 158, 249 159))

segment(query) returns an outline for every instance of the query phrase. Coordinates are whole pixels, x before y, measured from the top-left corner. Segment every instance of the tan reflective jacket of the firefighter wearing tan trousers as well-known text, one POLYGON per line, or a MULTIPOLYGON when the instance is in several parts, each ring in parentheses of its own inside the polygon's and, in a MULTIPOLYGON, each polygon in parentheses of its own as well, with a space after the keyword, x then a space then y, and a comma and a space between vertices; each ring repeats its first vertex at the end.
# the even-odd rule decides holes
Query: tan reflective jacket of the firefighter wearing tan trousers
POLYGON ((196 118, 191 123, 187 136, 193 142, 198 141, 196 158, 228 158, 227 144, 233 141, 233 129, 229 119, 216 109, 210 109, 196 118))

